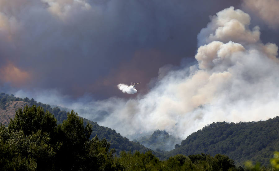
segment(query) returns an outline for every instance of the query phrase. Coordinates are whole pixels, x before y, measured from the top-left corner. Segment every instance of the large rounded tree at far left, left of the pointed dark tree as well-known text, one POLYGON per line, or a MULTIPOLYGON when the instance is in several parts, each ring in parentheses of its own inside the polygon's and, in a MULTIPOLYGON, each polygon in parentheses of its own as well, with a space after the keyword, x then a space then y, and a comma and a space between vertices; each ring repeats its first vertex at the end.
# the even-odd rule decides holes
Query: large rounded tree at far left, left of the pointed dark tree
MULTIPOLYGON (((18 109, 15 119, 11 119, 8 128, 2 128, 0 135, 4 149, 10 151, 11 161, 23 159, 31 164, 31 170, 53 168, 55 152, 60 146, 55 140, 57 125, 54 116, 48 111, 44 112, 42 107, 33 105, 25 106, 24 110, 18 109)), ((12 163, 5 165, 9 164, 12 163)), ((19 168, 17 164, 13 166, 14 169, 19 168)))

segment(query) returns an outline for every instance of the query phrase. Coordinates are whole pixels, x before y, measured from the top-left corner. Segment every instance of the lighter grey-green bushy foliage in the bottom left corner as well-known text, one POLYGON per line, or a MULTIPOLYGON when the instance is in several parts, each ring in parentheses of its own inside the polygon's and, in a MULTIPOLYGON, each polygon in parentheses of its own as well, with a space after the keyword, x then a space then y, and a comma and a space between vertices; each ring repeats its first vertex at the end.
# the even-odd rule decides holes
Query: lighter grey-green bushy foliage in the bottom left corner
POLYGON ((22 130, 1 128, 0 168, 3 170, 51 170, 55 149, 47 133, 38 130, 25 135, 22 130))

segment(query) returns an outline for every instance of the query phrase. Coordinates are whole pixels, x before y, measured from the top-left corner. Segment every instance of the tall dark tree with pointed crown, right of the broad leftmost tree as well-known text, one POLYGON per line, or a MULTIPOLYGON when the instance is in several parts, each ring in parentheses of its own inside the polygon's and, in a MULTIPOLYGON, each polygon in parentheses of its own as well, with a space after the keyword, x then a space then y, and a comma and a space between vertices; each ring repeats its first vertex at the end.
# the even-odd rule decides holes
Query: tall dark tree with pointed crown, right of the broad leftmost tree
POLYGON ((60 159, 57 166, 63 170, 85 169, 92 126, 87 123, 84 127, 83 119, 72 110, 67 113, 67 120, 63 121, 58 130, 63 144, 57 153, 60 159))

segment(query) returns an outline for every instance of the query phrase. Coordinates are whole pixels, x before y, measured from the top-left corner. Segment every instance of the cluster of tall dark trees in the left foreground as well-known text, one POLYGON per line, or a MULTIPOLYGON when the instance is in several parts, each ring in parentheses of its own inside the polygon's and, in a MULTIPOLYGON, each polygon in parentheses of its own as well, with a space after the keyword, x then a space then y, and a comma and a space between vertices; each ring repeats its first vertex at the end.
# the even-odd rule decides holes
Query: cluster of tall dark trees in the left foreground
MULTIPOLYGON (((89 139, 92 126, 83 125, 75 112, 61 125, 42 107, 16 111, 8 127, 0 128, 1 170, 89 170, 110 167, 113 160, 106 140, 89 139)), ((106 169, 106 168, 105 168, 106 169)))

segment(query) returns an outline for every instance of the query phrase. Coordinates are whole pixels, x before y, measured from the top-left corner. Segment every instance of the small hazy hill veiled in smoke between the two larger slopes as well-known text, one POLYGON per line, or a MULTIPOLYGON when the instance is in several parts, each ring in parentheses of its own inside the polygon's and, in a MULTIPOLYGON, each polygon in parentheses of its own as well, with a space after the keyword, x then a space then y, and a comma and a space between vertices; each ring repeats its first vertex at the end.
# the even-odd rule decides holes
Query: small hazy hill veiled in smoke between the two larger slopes
POLYGON ((180 143, 181 139, 167 133, 165 130, 156 130, 152 135, 144 136, 139 139, 133 140, 139 142, 145 147, 151 148, 156 151, 165 150, 170 151, 174 148, 176 143, 180 143))

